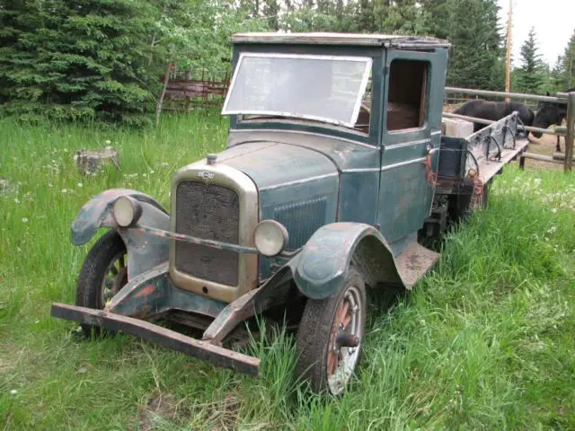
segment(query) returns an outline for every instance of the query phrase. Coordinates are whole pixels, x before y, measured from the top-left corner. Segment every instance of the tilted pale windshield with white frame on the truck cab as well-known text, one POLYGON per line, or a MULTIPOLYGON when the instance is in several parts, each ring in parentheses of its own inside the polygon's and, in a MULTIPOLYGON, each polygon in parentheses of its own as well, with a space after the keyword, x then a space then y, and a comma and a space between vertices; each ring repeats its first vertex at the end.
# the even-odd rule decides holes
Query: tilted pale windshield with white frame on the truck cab
POLYGON ((222 113, 317 119, 353 128, 369 57, 243 53, 222 113))

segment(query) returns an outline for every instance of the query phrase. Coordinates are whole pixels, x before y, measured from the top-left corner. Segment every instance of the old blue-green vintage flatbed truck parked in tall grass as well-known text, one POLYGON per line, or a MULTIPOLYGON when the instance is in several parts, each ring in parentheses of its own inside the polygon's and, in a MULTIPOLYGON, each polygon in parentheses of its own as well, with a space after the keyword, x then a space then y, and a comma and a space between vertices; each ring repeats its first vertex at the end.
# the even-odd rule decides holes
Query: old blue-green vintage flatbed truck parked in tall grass
POLYGON ((298 325, 297 372, 339 395, 358 365, 366 288, 411 289, 439 257, 418 241, 482 207, 527 141, 516 113, 442 136, 447 41, 231 41, 226 150, 174 173, 170 211, 131 189, 87 202, 72 242, 109 231, 85 258, 75 305, 53 303, 51 314, 86 334, 119 330, 258 374, 260 360, 226 340, 254 316, 285 312, 298 325))

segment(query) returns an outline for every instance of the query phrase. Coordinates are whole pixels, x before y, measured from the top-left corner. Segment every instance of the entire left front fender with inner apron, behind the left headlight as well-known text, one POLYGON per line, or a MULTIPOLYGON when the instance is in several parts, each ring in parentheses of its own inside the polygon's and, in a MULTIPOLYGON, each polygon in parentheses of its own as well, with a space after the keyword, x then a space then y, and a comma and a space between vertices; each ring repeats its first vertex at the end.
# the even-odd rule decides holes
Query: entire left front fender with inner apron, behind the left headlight
POLYGON ((170 216, 154 198, 130 189, 109 189, 89 200, 75 217, 71 239, 75 245, 90 241, 102 226, 118 231, 128 249, 128 278, 136 277, 168 260, 170 242, 167 238, 120 228, 111 214, 114 201, 120 196, 137 199, 142 206, 141 224, 157 229, 170 229, 170 216))

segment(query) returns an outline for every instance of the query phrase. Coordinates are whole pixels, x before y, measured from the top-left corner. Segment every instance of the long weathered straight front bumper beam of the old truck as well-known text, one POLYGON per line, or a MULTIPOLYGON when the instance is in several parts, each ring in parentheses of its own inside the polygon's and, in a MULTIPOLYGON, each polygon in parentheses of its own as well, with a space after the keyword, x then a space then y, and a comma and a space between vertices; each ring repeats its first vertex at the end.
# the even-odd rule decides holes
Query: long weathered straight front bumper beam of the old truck
POLYGON ((107 330, 122 331, 140 339, 177 350, 217 366, 233 369, 239 373, 259 375, 260 359, 243 355, 208 341, 192 339, 173 330, 114 312, 78 307, 66 303, 53 303, 50 315, 68 321, 77 321, 107 330))

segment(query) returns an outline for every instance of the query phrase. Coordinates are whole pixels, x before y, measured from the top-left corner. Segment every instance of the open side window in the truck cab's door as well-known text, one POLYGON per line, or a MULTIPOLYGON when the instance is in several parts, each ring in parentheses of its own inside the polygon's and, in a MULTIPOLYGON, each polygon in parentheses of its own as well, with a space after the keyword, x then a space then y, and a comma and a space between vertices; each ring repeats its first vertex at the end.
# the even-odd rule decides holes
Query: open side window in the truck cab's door
POLYGON ((429 66, 425 61, 397 59, 389 70, 387 130, 422 128, 428 90, 429 66))

